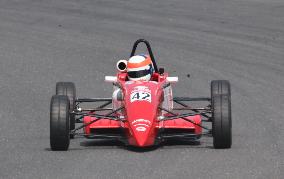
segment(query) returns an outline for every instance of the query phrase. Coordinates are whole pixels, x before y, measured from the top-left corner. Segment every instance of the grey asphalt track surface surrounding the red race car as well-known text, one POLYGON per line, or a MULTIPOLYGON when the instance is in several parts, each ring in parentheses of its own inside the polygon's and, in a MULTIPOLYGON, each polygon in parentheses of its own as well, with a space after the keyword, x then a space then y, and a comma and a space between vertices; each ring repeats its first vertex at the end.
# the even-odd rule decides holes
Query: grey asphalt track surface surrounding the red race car
POLYGON ((0 178, 283 178, 283 49, 282 0, 1 0, 0 178), (75 139, 50 151, 55 83, 110 97, 104 76, 138 38, 180 77, 176 96, 231 82, 231 149, 211 138, 150 151, 75 139))

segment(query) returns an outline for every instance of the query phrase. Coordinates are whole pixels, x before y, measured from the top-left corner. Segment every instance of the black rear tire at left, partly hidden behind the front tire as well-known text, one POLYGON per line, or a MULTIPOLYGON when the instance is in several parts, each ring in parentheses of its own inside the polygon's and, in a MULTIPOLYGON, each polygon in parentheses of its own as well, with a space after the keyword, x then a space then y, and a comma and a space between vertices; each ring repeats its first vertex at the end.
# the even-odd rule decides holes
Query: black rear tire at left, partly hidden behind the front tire
MULTIPOLYGON (((75 109, 76 100, 76 87, 72 82, 57 82, 56 83, 56 95, 65 95, 69 98, 70 109, 75 109)), ((75 115, 70 114, 70 130, 75 129, 75 115)), ((74 135, 70 134, 70 138, 73 139, 74 135)))

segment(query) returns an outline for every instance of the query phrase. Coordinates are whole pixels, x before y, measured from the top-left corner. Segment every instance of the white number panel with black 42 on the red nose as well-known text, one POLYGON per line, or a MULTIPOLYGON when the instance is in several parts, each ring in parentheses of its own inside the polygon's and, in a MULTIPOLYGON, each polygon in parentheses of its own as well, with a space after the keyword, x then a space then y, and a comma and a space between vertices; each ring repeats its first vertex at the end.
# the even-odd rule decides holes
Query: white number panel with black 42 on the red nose
POLYGON ((146 86, 136 86, 130 94, 130 102, 148 101, 151 103, 151 90, 146 86))

